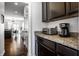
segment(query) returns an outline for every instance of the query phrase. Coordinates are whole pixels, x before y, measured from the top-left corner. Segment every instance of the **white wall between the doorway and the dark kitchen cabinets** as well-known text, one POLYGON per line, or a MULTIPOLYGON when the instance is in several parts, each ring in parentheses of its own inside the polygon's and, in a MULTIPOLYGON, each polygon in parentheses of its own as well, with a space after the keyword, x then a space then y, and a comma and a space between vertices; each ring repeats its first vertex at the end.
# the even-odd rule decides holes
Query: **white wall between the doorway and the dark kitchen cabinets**
POLYGON ((42 23, 42 3, 32 2, 32 55, 35 55, 35 31, 41 31, 46 26, 42 23))

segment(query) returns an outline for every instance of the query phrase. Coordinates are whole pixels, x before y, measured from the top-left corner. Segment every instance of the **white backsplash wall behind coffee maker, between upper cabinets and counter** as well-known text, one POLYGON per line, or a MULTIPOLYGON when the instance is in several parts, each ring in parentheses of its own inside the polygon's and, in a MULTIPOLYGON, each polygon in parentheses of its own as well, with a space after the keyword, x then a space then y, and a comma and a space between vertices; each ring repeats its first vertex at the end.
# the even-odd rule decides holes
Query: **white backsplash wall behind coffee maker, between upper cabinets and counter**
POLYGON ((60 27, 59 24, 60 23, 69 23, 70 24, 70 32, 78 32, 78 26, 79 26, 79 17, 74 17, 74 18, 68 18, 68 19, 63 19, 63 20, 59 20, 59 21, 55 21, 55 22, 49 22, 48 24, 48 28, 53 28, 55 26, 57 26, 58 31, 60 31, 60 27))

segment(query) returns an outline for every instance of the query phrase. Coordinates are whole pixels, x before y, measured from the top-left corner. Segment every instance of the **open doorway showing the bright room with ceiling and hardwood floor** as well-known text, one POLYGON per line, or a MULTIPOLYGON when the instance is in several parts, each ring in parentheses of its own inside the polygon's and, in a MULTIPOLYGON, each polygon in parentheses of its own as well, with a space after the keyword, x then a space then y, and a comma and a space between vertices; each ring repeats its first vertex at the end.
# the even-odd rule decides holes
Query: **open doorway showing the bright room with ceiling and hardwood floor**
POLYGON ((5 2, 5 53, 4 56, 28 54, 28 4, 5 2))

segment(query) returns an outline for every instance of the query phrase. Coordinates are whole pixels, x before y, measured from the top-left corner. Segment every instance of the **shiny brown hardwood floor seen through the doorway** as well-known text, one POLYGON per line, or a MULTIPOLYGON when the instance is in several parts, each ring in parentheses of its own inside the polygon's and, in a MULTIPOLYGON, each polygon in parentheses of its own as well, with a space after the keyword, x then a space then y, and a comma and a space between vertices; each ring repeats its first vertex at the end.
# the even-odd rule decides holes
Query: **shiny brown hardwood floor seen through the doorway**
POLYGON ((18 44, 14 39, 5 39, 5 54, 4 56, 27 56, 27 48, 23 41, 18 44))

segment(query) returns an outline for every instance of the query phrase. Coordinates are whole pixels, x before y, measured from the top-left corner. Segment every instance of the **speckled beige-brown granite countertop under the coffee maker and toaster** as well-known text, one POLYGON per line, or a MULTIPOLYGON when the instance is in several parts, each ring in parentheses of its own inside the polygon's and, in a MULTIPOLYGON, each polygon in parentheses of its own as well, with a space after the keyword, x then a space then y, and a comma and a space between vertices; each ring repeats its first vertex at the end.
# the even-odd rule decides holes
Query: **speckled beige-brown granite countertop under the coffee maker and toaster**
POLYGON ((35 35, 79 50, 78 48, 79 40, 76 39, 75 37, 60 37, 59 35, 46 35, 41 32, 36 32, 35 35))

